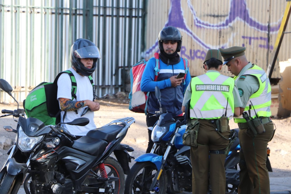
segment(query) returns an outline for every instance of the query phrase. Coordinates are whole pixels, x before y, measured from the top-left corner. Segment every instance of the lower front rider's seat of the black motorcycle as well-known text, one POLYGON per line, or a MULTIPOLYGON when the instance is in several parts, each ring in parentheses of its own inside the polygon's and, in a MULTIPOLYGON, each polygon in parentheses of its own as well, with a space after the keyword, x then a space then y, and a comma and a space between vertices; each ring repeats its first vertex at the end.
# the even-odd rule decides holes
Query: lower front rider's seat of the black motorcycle
POLYGON ((107 146, 107 142, 89 136, 83 136, 75 140, 72 147, 84 151, 92 156, 98 156, 107 146))

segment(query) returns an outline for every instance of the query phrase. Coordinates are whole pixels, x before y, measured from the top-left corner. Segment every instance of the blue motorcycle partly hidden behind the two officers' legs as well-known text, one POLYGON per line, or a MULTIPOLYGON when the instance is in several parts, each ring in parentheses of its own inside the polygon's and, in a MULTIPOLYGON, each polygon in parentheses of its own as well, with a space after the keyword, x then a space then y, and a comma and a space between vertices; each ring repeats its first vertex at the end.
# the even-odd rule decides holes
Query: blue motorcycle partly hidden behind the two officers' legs
MULTIPOLYGON (((151 152, 135 159, 125 182, 125 194, 137 193, 192 193, 192 165, 190 147, 184 146, 185 119, 173 119, 161 105, 161 93, 155 88, 160 110, 154 116, 159 120, 152 128, 155 143, 151 152)), ((187 116, 185 116, 187 118, 187 116)), ((232 134, 237 136, 238 129, 232 134)), ((232 144, 226 157, 226 191, 237 193, 239 184, 239 140, 232 144)), ((269 161, 269 159, 267 158, 269 161)), ((211 193, 211 188, 209 188, 211 193)))

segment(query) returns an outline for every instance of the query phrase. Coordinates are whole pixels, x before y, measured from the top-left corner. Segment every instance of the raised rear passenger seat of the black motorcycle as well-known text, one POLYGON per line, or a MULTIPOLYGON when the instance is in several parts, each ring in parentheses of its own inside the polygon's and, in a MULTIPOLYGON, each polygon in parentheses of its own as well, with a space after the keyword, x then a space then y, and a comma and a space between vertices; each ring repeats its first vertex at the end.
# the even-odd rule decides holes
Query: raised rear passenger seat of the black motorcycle
POLYGON ((111 142, 116 139, 116 135, 123 129, 120 125, 109 125, 88 131, 87 136, 95 139, 102 139, 111 142))

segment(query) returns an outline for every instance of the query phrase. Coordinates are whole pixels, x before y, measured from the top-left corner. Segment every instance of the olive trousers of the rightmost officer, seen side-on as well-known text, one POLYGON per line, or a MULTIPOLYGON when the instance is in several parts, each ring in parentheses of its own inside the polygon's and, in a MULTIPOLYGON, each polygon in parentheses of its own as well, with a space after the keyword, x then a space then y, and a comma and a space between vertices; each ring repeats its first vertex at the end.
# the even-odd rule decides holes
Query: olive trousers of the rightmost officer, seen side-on
POLYGON ((239 130, 239 194, 269 194, 269 172, 266 167, 267 145, 274 133, 274 125, 264 125, 265 133, 253 135, 250 129, 239 130))

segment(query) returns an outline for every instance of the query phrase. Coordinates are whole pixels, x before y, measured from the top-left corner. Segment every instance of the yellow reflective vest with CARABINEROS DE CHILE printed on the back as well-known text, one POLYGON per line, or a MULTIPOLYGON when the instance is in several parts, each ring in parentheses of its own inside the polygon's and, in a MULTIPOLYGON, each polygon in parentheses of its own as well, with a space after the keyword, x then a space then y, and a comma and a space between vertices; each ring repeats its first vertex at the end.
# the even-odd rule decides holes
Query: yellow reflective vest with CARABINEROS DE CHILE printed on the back
POLYGON ((208 72, 192 78, 190 117, 219 119, 226 112, 228 119, 232 119, 234 85, 233 78, 218 72, 208 72))

